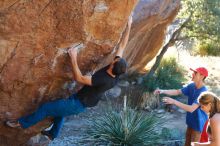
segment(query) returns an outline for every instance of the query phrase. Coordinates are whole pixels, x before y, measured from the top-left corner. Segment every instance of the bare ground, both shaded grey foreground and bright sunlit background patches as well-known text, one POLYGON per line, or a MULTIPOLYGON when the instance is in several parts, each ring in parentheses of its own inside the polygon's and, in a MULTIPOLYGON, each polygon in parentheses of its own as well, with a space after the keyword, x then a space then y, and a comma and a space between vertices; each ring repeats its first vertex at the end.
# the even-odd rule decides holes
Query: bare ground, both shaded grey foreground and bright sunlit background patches
MULTIPOLYGON (((175 49, 170 49, 165 57, 176 56, 178 63, 183 65, 186 70, 205 66, 209 70, 209 77, 206 79, 206 85, 210 91, 220 95, 220 58, 219 57, 200 57, 190 56, 189 52, 178 52, 175 49)), ((186 74, 191 76, 189 70, 186 74)), ((186 100, 186 99, 185 99, 186 100)), ((61 135, 49 144, 49 146, 90 146, 94 145, 89 139, 85 139, 85 131, 89 125, 88 119, 98 117, 102 113, 102 108, 105 108, 105 102, 100 102, 95 108, 88 109, 87 112, 77 116, 70 116, 66 119, 61 135)), ((176 111, 162 112, 167 124, 164 127, 168 129, 176 129, 185 135, 185 115, 186 113, 177 108, 176 111)))

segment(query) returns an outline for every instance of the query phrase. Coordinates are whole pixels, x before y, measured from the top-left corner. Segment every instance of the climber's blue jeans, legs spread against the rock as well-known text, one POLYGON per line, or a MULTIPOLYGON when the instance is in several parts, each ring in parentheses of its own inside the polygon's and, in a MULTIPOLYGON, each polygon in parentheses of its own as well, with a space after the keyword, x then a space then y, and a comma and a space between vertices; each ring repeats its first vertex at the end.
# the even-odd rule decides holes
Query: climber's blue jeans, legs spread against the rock
POLYGON ((18 121, 22 128, 28 128, 46 117, 53 117, 54 123, 49 132, 53 138, 56 138, 63 126, 64 117, 81 113, 84 110, 85 107, 73 94, 68 99, 44 103, 34 113, 21 117, 18 121))

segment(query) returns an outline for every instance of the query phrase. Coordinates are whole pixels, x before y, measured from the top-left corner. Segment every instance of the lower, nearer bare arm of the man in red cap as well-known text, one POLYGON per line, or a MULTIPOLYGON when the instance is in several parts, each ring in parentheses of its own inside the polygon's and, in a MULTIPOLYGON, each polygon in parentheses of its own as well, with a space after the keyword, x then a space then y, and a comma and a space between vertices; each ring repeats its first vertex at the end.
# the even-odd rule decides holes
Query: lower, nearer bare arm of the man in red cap
POLYGON ((175 99, 172 99, 170 97, 164 97, 163 98, 163 102, 165 104, 174 104, 174 105, 178 106, 179 108, 181 108, 181 109, 183 109, 183 110, 185 110, 187 112, 190 112, 190 113, 194 112, 199 107, 198 104, 194 103, 192 105, 187 105, 187 104, 179 102, 179 101, 177 101, 175 99))

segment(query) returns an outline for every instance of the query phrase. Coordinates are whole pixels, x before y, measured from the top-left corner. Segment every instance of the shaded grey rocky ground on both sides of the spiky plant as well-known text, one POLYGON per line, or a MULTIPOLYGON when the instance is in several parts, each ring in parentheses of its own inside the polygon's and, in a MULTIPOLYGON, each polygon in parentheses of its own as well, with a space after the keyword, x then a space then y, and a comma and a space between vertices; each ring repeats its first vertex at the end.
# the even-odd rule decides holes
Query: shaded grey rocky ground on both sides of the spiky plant
MULTIPOLYGON (((94 146, 93 141, 85 138, 86 130, 90 125, 88 120, 94 116, 99 117, 103 111, 101 109, 105 108, 106 105, 106 102, 101 101, 97 107, 88 109, 86 113, 68 117, 60 137, 50 142, 49 146, 94 146)), ((166 122, 163 127, 175 129, 180 132, 181 135, 184 135, 184 129, 186 127, 184 124, 185 112, 177 110, 170 113, 163 109, 156 109, 154 112, 165 117, 166 122)))

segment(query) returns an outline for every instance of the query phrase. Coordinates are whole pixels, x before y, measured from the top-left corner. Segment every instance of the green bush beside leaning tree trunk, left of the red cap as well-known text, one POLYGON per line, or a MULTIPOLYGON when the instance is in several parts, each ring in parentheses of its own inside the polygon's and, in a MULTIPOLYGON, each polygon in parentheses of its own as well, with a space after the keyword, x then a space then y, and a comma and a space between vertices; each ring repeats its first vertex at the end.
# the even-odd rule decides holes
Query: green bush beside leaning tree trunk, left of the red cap
POLYGON ((157 87, 162 89, 181 88, 182 82, 186 80, 184 72, 185 70, 178 65, 175 58, 163 59, 154 76, 148 80, 144 79, 143 86, 149 92, 153 92, 157 87))

